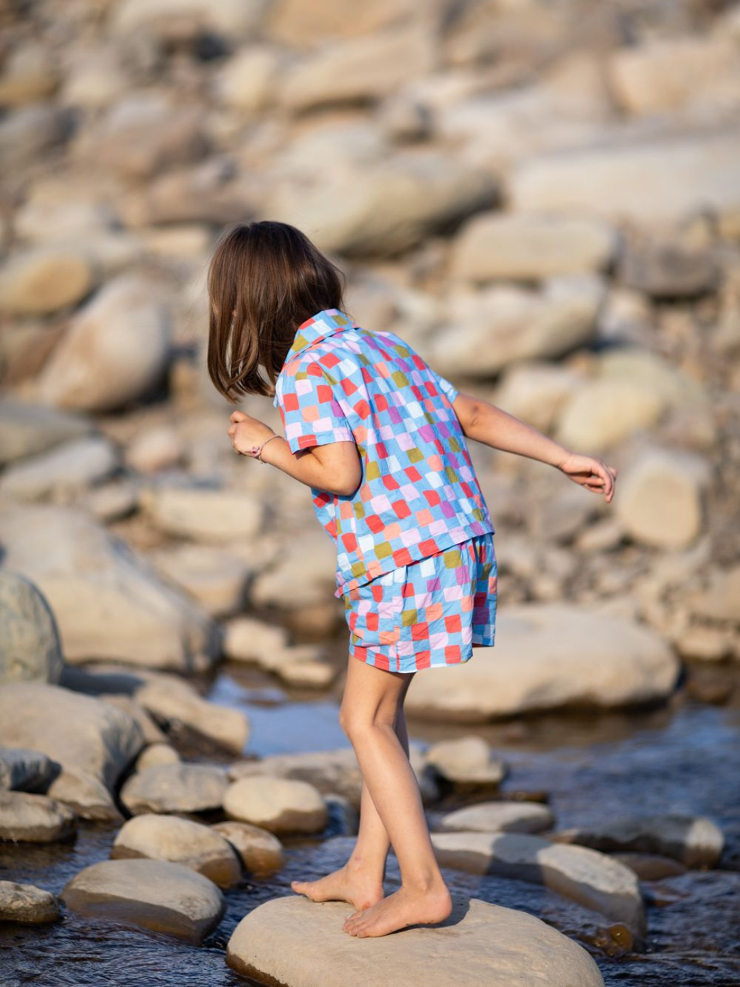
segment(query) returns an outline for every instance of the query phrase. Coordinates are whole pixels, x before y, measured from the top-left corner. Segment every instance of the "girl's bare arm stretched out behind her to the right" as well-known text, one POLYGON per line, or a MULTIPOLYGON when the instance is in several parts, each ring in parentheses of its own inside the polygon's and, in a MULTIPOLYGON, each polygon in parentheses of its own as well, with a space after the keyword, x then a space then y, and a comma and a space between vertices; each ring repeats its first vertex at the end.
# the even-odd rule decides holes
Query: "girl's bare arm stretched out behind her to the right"
POLYGON ((555 466, 573 483, 593 493, 603 493, 607 503, 614 496, 617 470, 607 466, 602 459, 565 449, 534 425, 509 415, 482 398, 460 393, 452 407, 468 438, 476 439, 492 449, 513 452, 555 466))

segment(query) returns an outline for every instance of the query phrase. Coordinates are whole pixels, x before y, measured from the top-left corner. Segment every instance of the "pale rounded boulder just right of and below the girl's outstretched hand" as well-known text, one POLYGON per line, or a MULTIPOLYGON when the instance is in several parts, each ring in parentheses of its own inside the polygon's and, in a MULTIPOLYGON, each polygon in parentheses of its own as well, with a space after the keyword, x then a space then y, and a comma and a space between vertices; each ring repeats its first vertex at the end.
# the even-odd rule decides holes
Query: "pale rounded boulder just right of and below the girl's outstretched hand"
POLYGON ((617 518, 631 539, 661 549, 691 545, 703 529, 709 463, 684 450, 643 449, 621 477, 617 518))

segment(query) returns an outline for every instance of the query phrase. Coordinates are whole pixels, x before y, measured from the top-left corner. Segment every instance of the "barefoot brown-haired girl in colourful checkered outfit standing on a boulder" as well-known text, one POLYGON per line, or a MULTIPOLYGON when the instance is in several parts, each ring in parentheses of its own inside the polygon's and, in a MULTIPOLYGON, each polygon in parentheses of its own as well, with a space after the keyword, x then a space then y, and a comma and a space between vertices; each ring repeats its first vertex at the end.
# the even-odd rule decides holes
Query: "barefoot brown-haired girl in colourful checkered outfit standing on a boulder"
POLYGON ((310 487, 336 545, 350 638, 339 721, 363 777, 360 827, 344 867, 292 887, 352 904, 343 930, 365 937, 452 910, 408 761, 404 700, 418 670, 493 645, 494 528, 466 440, 549 463, 607 501, 617 471, 459 393, 394 333, 360 327, 342 279, 287 223, 228 227, 208 271, 207 359, 228 401, 274 398, 285 438, 235 411, 232 445, 310 487), (391 845, 402 885, 385 897, 391 845))

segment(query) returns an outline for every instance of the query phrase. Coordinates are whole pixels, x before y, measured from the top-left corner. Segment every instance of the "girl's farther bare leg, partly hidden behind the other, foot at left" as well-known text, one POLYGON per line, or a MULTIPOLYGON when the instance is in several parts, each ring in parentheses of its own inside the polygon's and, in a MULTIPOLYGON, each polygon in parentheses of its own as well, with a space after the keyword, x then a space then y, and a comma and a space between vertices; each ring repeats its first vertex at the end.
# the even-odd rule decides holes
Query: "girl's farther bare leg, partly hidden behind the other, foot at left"
MULTIPOLYGON (((350 658, 357 661, 357 658, 350 658)), ((396 711, 394 728, 406 756, 408 757, 408 731, 404 700, 413 673, 405 676, 402 683, 399 705, 396 711)), ((388 830, 383 823, 375 802, 370 795, 367 783, 363 780, 360 797, 360 827, 357 842, 346 864, 338 871, 327 874, 319 880, 293 880, 290 886, 294 891, 305 894, 314 901, 347 901, 361 910, 370 908, 384 895, 383 881, 386 876, 386 861, 391 849, 388 830)))

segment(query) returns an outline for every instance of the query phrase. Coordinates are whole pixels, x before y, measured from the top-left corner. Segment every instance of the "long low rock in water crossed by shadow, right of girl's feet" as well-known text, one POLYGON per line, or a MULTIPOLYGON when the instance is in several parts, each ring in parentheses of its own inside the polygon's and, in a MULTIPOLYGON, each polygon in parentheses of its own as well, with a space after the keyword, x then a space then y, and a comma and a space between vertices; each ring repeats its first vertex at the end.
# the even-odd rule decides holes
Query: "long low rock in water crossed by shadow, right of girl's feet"
POLYGON ((634 873, 617 861, 587 850, 564 847, 524 833, 432 833, 440 867, 545 884, 586 908, 645 933, 645 908, 634 873), (562 853, 562 851, 580 853, 562 853))

